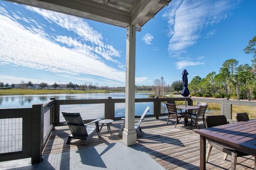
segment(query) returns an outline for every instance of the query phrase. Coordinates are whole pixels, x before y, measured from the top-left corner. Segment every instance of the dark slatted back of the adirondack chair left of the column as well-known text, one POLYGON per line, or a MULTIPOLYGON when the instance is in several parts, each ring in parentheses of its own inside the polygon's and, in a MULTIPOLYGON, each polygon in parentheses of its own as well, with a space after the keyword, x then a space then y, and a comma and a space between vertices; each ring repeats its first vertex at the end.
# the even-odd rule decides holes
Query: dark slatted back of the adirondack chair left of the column
POLYGON ((73 137, 88 136, 80 113, 62 112, 73 137))

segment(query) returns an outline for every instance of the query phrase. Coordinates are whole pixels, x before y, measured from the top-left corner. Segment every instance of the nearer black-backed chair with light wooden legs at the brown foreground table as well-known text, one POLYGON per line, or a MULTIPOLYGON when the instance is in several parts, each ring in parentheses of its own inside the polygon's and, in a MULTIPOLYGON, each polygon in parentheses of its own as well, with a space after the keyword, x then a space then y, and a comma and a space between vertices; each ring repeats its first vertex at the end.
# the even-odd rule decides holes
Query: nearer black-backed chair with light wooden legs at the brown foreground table
MULTIPOLYGON (((227 119, 225 115, 206 115, 205 116, 205 120, 206 120, 206 127, 214 127, 214 126, 218 126, 218 125, 225 125, 227 124, 227 119)), ((207 149, 207 153, 206 153, 206 162, 208 162, 208 159, 210 157, 210 153, 212 150, 212 147, 224 152, 224 160, 226 160, 228 154, 232 156, 231 158, 231 169, 235 170, 236 169, 236 158, 240 157, 240 156, 246 156, 248 154, 244 153, 244 152, 240 152, 238 150, 232 149, 230 147, 226 147, 224 145, 221 145, 219 143, 216 142, 212 142, 210 140, 208 140, 208 149, 207 149)), ((256 157, 254 156, 254 169, 256 168, 256 161, 255 161, 256 157)))

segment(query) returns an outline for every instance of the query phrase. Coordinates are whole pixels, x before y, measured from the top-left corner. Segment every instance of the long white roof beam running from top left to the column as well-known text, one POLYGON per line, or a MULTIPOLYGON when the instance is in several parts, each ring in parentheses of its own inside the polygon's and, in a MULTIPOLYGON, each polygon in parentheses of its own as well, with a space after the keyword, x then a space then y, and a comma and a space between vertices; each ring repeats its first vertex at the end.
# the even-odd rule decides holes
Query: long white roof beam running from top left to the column
POLYGON ((79 16, 126 28, 130 25, 130 12, 119 10, 92 0, 10 0, 24 5, 79 16), (72 1, 72 3, 70 3, 72 1))

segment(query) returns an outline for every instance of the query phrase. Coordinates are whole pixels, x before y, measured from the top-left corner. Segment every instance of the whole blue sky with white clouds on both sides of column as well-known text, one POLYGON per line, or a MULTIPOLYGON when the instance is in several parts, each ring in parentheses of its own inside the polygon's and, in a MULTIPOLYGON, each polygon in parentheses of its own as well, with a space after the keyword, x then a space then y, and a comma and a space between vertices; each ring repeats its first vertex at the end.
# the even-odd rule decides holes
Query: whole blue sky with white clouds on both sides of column
MULTIPOLYGON (((136 32, 136 85, 251 64, 256 0, 172 0, 136 32)), ((0 82, 125 86, 126 29, 0 0, 0 82)))

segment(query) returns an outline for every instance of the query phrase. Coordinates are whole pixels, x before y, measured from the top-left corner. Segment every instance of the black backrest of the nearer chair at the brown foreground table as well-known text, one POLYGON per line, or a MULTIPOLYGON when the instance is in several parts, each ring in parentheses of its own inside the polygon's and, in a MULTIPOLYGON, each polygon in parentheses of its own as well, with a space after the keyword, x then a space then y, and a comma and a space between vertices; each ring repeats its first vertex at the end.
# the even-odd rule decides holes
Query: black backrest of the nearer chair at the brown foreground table
POLYGON ((226 115, 205 115, 206 127, 228 124, 226 115))

